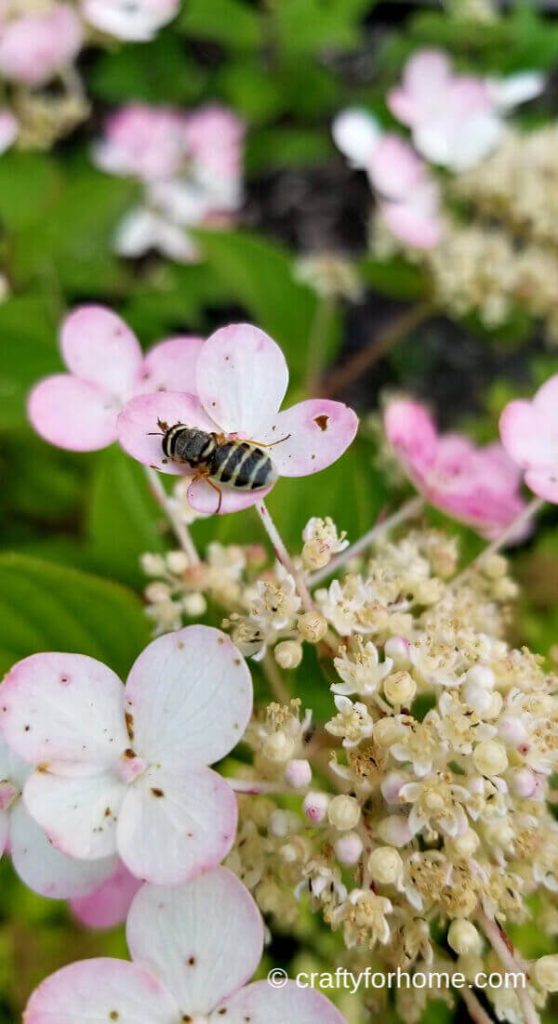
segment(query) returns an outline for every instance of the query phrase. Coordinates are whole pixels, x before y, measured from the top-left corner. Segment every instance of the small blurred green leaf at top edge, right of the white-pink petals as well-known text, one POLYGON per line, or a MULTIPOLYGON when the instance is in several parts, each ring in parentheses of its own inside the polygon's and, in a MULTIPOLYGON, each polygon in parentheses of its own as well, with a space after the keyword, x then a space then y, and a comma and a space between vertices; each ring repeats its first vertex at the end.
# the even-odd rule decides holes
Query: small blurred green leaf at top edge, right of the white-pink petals
POLYGON ((263 24, 243 0, 188 0, 180 18, 180 27, 189 36, 247 50, 263 42, 263 24))

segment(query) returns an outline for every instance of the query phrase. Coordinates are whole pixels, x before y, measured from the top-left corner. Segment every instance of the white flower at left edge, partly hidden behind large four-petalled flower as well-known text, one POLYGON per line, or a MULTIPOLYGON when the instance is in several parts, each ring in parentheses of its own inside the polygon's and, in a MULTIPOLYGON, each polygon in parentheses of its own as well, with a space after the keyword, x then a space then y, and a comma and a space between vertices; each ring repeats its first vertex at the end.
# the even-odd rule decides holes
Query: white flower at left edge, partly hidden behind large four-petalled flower
POLYGON ((22 881, 41 896, 87 897, 113 874, 117 858, 76 860, 49 842, 20 799, 32 770, 0 735, 0 856, 9 852, 22 881))

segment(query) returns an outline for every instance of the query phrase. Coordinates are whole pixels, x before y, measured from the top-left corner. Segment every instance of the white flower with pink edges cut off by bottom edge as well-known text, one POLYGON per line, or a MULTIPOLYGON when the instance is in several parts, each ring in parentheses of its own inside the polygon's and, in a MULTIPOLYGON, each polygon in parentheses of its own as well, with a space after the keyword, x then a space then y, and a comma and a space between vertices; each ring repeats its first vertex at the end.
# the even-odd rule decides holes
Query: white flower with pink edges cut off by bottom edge
POLYGON ((174 890, 142 886, 127 923, 132 962, 65 967, 31 996, 26 1024, 345 1024, 319 992, 246 984, 263 950, 254 900, 225 868, 174 890))

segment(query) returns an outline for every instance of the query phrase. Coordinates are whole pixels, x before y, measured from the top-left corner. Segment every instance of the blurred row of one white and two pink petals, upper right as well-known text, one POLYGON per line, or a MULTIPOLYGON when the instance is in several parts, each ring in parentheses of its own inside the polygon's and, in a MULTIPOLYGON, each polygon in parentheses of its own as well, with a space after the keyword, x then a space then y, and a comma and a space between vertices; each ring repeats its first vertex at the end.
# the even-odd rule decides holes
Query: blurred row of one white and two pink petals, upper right
POLYGON ((409 142, 382 133, 372 115, 356 109, 336 118, 333 135, 350 164, 367 171, 391 233, 418 249, 436 246, 442 236, 438 185, 409 142))

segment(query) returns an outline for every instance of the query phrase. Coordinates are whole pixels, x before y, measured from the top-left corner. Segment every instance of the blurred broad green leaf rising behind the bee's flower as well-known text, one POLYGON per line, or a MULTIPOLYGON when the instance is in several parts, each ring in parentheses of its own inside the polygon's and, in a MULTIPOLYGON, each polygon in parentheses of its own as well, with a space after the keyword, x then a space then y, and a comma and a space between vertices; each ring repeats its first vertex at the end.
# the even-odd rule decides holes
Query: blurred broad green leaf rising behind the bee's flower
MULTIPOLYGON (((289 253, 254 234, 225 231, 197 231, 212 268, 230 289, 234 300, 252 319, 281 345, 289 369, 300 379, 307 361, 308 339, 315 321, 318 300, 294 275, 289 253)), ((331 317, 325 349, 331 350, 339 337, 340 323, 331 317)))

